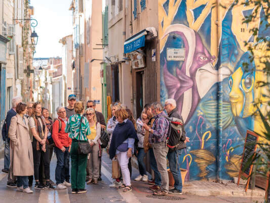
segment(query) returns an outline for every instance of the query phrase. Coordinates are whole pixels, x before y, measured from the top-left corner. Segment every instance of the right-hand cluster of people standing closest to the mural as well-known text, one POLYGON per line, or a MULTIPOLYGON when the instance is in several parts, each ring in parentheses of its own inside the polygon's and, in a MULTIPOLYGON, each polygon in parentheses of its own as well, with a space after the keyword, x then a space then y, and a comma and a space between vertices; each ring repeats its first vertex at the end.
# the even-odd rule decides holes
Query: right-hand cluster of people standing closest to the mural
POLYGON ((121 168, 121 178, 115 179, 110 187, 131 191, 131 157, 136 154, 140 175, 135 181, 144 181, 152 186, 153 195, 164 196, 168 193, 182 194, 179 156, 186 148, 189 138, 185 136, 184 121, 176 109, 176 101, 172 98, 165 105, 155 102, 146 104, 141 116, 135 121, 132 112, 123 105, 114 103, 111 107, 112 117, 107 123, 110 134, 109 156, 117 159, 121 168), (165 111, 166 110, 166 113, 165 111), (181 121, 181 137, 174 149, 167 147, 171 126, 168 118, 181 121), (149 152, 150 167, 154 172, 153 180, 148 180, 144 157, 149 152), (174 188, 169 190, 167 158, 174 178, 174 188))

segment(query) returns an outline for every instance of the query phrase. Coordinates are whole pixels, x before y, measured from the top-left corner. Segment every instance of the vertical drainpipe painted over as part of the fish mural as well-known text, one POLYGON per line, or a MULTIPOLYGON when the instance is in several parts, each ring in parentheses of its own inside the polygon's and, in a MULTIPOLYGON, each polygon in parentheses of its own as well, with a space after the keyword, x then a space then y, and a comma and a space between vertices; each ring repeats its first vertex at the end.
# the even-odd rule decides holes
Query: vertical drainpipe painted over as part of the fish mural
MULTIPOLYGON (((221 19, 219 18, 219 1, 217 0, 216 2, 217 6, 217 67, 219 67, 219 62, 220 62, 220 52, 222 51, 222 47, 219 47, 219 37, 221 36, 221 33, 219 33, 219 27, 221 26, 221 19)), ((222 89, 222 69, 218 69, 218 112, 217 112, 217 122, 218 122, 218 129, 217 129, 217 180, 220 182, 221 181, 221 170, 222 170, 222 105, 223 105, 223 89, 222 89)))

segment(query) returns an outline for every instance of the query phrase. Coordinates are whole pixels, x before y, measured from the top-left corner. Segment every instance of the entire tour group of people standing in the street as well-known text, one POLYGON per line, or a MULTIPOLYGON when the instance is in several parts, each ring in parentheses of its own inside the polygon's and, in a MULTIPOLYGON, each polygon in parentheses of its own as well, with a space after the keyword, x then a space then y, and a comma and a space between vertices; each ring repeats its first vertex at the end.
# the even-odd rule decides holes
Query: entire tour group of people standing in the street
MULTIPOLYGON (((167 118, 182 120, 177 113, 175 100, 167 99, 164 107, 157 102, 145 105, 137 121, 125 105, 114 103, 111 105, 112 117, 107 125, 103 114, 96 111, 95 107, 95 102, 89 100, 85 108, 84 103, 76 101, 76 96, 71 94, 68 96, 68 106, 58 107, 58 118, 53 121, 49 117, 48 109, 43 108, 41 103, 25 104, 22 97, 13 98, 12 109, 8 111, 2 128, 5 141, 5 165, 2 171, 8 173, 7 186, 17 188, 17 191, 32 193, 34 179, 35 189, 66 189, 71 186, 73 194, 86 192, 85 182, 98 184, 101 180, 100 136, 106 131, 109 136, 109 157, 117 159, 121 168, 121 176, 115 179, 110 187, 122 189, 124 192, 132 190, 131 157, 135 154, 140 173, 135 181, 148 181, 153 185, 150 189, 155 195, 167 195, 168 192, 181 194, 182 180, 178 157, 189 139, 183 133, 177 149, 168 150, 166 145, 170 135, 167 118), (78 145, 87 142, 91 146, 91 153, 79 153, 78 145), (57 158, 56 183, 50 179, 53 152, 57 158), (152 181, 148 180, 144 164, 147 152, 155 174, 152 181), (172 190, 169 190, 167 158, 175 181, 172 190)), ((183 125, 182 128, 184 132, 183 125)))

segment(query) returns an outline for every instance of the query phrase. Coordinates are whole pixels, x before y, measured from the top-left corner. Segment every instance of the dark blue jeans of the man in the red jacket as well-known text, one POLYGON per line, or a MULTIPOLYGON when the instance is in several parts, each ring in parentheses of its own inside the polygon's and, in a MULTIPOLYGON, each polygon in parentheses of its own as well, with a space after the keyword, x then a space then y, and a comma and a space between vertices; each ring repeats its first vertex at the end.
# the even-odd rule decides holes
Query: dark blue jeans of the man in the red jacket
MULTIPOLYGON (((58 147, 55 147, 57 158, 55 180, 57 185, 63 183, 67 176, 69 177, 69 147, 65 147, 65 149, 65 152, 62 152, 58 147)), ((69 179, 66 181, 69 182, 69 179)))

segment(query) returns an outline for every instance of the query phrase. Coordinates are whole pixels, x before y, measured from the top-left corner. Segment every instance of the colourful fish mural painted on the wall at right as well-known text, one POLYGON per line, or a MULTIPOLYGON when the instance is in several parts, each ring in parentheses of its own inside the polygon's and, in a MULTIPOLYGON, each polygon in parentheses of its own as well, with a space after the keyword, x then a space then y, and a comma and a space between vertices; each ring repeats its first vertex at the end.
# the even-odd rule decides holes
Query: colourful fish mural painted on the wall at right
POLYGON ((159 0, 161 101, 174 98, 185 121, 190 143, 179 161, 187 180, 238 176, 246 130, 264 129, 254 101, 265 113, 268 89, 258 81, 267 78, 258 59, 250 62, 246 43, 259 44, 255 57, 265 55, 265 43, 256 39, 270 40, 270 19, 264 22, 259 8, 254 22, 242 24, 256 5, 219 2, 225 7, 209 0, 159 0), (252 36, 255 27, 258 35, 252 36))

